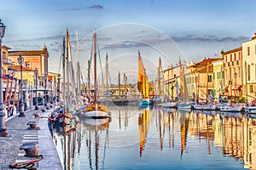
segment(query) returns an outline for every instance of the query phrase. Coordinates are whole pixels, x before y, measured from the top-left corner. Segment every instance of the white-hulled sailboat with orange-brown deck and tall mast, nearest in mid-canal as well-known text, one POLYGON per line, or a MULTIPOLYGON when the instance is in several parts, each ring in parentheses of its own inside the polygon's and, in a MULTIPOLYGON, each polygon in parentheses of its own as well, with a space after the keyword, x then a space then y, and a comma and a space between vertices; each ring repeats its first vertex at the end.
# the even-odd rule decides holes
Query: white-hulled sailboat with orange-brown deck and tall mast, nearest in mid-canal
POLYGON ((82 116, 90 118, 105 118, 110 117, 110 111, 106 105, 98 103, 98 87, 97 87, 97 70, 96 70, 96 29, 93 33, 93 54, 94 54, 94 101, 88 107, 84 108, 82 116))

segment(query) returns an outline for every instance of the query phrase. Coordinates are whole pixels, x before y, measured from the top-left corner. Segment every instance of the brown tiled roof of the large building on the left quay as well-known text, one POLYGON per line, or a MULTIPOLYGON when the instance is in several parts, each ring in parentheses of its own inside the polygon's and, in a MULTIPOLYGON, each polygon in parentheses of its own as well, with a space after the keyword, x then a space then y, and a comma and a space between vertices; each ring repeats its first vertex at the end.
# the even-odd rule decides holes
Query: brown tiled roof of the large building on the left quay
POLYGON ((47 48, 44 46, 43 50, 29 50, 29 51, 9 51, 9 56, 18 56, 18 55, 24 55, 24 56, 35 56, 35 55, 45 55, 49 56, 47 48))

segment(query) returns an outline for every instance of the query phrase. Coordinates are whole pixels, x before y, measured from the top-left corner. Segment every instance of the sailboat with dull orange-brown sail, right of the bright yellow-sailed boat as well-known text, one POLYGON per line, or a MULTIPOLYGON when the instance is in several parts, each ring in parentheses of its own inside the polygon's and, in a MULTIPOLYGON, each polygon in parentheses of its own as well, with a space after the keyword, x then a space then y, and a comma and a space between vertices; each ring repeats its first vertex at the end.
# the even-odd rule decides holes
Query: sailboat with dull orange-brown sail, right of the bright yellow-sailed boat
POLYGON ((191 104, 187 101, 188 99, 188 88, 185 80, 184 67, 179 59, 180 67, 180 89, 179 89, 179 103, 177 104, 178 110, 190 110, 191 104))

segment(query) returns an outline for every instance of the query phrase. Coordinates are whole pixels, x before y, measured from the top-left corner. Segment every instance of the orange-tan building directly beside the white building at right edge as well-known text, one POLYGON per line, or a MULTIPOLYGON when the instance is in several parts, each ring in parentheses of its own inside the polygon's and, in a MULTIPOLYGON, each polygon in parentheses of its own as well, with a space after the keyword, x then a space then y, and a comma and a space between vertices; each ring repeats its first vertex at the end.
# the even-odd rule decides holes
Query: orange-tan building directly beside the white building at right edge
POLYGON ((224 58, 224 95, 242 95, 242 51, 241 47, 221 51, 224 58))

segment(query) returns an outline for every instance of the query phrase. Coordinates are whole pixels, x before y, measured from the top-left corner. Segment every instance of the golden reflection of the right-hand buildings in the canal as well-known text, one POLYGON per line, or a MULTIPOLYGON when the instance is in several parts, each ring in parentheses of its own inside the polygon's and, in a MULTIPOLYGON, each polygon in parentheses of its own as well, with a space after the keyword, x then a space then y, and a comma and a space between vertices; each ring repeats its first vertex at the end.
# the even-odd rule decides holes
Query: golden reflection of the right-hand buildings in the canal
MULTIPOLYGON (((244 167, 256 169, 256 119, 240 113, 207 115, 191 113, 189 135, 213 141, 224 155, 244 161, 244 167)), ((210 148, 208 144, 208 153, 210 148)))

